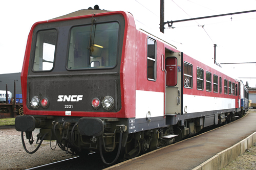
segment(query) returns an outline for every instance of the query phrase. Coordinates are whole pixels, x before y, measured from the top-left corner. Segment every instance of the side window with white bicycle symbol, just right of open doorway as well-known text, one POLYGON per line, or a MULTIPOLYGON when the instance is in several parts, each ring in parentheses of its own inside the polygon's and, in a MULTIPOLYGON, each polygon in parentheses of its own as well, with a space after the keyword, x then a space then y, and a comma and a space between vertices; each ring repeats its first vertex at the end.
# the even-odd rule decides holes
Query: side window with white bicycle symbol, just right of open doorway
POLYGON ((184 75, 183 75, 183 82, 185 88, 192 88, 193 87, 193 66, 189 63, 184 62, 184 75))

